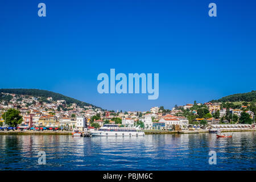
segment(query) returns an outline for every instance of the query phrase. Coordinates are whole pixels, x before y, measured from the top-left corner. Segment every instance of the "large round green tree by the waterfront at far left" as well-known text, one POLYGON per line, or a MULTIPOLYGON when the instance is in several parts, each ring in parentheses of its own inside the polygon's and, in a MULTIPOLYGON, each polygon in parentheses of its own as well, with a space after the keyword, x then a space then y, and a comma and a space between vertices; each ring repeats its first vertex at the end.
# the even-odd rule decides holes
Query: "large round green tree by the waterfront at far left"
POLYGON ((20 111, 16 109, 9 109, 3 115, 2 118, 6 118, 6 124, 11 127, 16 127, 18 124, 22 123, 22 116, 19 115, 20 111))

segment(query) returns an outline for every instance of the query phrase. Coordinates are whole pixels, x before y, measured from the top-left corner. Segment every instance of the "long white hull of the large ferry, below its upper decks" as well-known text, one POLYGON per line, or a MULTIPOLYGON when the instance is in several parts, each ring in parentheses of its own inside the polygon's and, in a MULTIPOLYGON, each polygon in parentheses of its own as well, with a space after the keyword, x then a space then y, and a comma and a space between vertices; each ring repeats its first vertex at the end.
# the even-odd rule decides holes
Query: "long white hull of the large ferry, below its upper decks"
POLYGON ((122 132, 122 131, 92 131, 92 136, 100 137, 139 137, 144 136, 144 132, 122 132))

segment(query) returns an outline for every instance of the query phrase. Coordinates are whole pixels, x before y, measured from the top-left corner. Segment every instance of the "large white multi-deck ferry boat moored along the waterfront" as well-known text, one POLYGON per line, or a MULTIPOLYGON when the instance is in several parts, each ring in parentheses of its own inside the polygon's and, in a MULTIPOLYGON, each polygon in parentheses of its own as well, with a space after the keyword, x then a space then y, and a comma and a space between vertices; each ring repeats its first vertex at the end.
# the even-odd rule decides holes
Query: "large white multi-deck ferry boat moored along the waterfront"
POLYGON ((145 133, 137 127, 119 127, 118 125, 105 124, 97 131, 91 131, 92 136, 112 136, 112 137, 138 137, 145 133))

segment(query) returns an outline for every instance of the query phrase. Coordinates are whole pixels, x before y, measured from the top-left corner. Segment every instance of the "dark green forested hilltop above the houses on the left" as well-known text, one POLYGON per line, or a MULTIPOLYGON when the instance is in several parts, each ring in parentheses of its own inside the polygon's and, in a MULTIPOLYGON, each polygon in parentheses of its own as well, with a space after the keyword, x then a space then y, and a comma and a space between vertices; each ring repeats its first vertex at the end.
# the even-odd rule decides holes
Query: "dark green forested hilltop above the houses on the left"
MULTIPOLYGON (((39 89, 0 89, 0 94, 1 93, 12 93, 12 94, 22 94, 22 95, 28 95, 28 96, 33 96, 33 97, 52 97, 53 101, 57 100, 65 100, 67 104, 72 104, 76 103, 78 106, 94 106, 92 104, 88 104, 86 102, 82 102, 79 100, 76 100, 75 98, 63 96, 63 94, 51 92, 48 90, 39 90, 39 89)), ((97 107, 100 108, 100 107, 97 107)))

